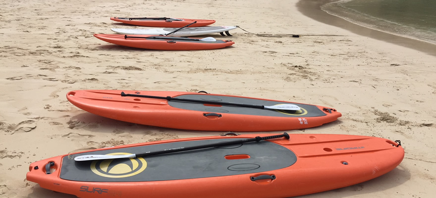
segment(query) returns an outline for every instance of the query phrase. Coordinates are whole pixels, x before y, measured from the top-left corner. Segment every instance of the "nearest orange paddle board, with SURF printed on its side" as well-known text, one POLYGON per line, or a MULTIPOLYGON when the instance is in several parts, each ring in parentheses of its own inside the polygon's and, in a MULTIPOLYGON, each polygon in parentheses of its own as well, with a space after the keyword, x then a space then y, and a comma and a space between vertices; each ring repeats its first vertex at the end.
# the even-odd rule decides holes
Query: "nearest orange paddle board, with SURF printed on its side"
MULTIPOLYGON (((259 136, 268 135, 271 134, 259 136)), ((159 147, 162 144, 183 145, 188 143, 186 141, 228 141, 255 136, 257 135, 244 134, 235 137, 178 139, 61 155, 32 163, 27 180, 38 183, 42 188, 79 198, 139 198, 144 195, 151 198, 284 198, 328 191, 374 179, 394 169, 404 157, 403 148, 382 138, 293 134, 289 140, 273 139, 244 143, 234 148, 207 148, 123 159, 124 161, 109 162, 109 165, 104 165, 101 162, 103 160, 82 164, 83 162, 74 162, 72 159, 91 152, 132 153, 129 149, 147 151, 147 147, 159 147), (246 152, 241 151, 244 147, 248 148, 246 152), (267 152, 270 154, 265 154, 267 152), (196 160, 191 160, 191 157, 196 160), (127 166, 127 162, 135 160, 139 164, 135 162, 130 165, 133 167, 130 172, 109 173, 116 166, 127 166), (46 174, 46 167, 51 161, 51 174, 46 174), (274 166, 274 163, 279 168, 269 167, 274 166), (245 169, 234 171, 232 168, 244 167, 244 164, 257 165, 257 169, 251 170, 247 168, 250 166, 245 166, 245 169), (63 170, 64 167, 67 169, 63 170), (219 176, 209 174, 214 171, 219 176), (144 176, 136 177, 140 174, 144 176), (109 177, 110 175, 112 176, 109 177), (164 177, 168 179, 163 180, 164 177)))

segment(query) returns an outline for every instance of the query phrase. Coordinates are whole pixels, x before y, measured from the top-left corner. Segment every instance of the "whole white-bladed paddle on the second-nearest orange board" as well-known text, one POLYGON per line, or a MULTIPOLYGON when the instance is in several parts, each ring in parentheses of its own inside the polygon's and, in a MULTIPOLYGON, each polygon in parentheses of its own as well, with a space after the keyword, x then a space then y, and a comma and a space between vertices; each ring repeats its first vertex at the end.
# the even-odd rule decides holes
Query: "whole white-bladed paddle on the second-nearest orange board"
POLYGON ((264 105, 256 105, 256 104, 241 104, 241 103, 233 103, 233 102, 218 102, 218 101, 207 101, 207 100, 197 100, 197 99, 177 99, 167 97, 159 97, 159 96, 146 96, 146 95, 138 95, 138 94, 125 94, 121 92, 121 96, 130 96, 130 97, 140 97, 140 98, 149 98, 149 99, 166 99, 166 100, 176 100, 176 101, 184 101, 184 102, 196 102, 203 104, 219 104, 226 106, 242 106, 249 108, 259 108, 259 109, 280 109, 280 110, 300 110, 300 107, 295 104, 278 104, 274 106, 264 106, 264 105))

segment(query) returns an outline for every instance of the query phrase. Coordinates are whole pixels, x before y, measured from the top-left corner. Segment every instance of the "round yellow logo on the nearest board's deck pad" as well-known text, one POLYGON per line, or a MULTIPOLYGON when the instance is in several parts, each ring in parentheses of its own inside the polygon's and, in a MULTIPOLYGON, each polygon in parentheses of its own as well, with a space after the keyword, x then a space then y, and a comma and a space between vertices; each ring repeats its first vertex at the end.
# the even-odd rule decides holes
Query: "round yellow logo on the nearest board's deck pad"
MULTIPOLYGON (((114 152, 107 155, 132 154, 127 152, 114 152)), ((123 178, 137 175, 147 168, 147 162, 142 157, 129 159, 94 160, 91 170, 97 175, 109 178, 123 178)))

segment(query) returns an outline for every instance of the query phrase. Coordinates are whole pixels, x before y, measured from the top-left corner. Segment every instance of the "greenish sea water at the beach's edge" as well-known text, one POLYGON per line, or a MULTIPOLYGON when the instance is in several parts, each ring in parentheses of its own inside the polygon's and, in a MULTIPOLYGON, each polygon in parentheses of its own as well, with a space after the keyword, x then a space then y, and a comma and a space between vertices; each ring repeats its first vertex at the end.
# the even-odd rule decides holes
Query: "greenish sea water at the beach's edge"
POLYGON ((339 0, 322 9, 361 26, 436 44, 436 0, 339 0))

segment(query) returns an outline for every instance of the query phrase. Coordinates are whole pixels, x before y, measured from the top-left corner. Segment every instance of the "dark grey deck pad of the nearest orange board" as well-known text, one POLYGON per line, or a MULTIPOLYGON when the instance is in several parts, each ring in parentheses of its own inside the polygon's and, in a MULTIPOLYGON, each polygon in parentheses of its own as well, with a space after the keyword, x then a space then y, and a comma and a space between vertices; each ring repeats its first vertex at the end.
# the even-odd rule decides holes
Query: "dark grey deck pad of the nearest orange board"
POLYGON ((118 148, 80 153, 62 159, 60 178, 85 182, 142 182, 194 179, 257 173, 285 168, 297 160, 295 154, 268 141, 250 142, 221 148, 203 148, 144 158, 74 161, 83 154, 141 153, 167 148, 233 141, 214 139, 118 148), (226 159, 226 155, 247 154, 249 158, 226 159), (94 169, 94 170, 92 170, 94 169))

